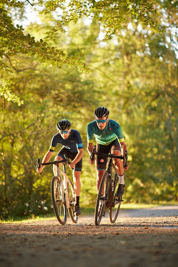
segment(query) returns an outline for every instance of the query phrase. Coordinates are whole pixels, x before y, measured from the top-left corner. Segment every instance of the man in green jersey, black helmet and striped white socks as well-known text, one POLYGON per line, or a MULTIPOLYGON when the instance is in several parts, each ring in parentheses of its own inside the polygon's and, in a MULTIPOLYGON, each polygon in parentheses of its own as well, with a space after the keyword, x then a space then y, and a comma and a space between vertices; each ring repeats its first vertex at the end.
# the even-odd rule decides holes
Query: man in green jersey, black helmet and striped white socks
MULTIPOLYGON (((125 155, 127 150, 126 143, 122 134, 120 125, 109 119, 109 110, 106 107, 98 107, 95 109, 94 117, 95 120, 87 126, 87 150, 89 155, 93 150, 93 135, 96 138, 96 151, 101 153, 112 153, 114 155, 121 156, 125 155)), ((97 172, 96 189, 99 190, 100 182, 106 171, 107 158, 96 155, 96 158, 92 161, 89 159, 90 164, 95 163, 97 172)), ((124 193, 125 182, 124 182, 124 170, 128 170, 129 165, 124 167, 121 159, 114 159, 115 168, 119 176, 119 186, 117 189, 116 196, 121 197, 124 193)), ((100 201, 102 202, 102 200, 100 201)), ((101 205, 102 203, 100 203, 101 205)))

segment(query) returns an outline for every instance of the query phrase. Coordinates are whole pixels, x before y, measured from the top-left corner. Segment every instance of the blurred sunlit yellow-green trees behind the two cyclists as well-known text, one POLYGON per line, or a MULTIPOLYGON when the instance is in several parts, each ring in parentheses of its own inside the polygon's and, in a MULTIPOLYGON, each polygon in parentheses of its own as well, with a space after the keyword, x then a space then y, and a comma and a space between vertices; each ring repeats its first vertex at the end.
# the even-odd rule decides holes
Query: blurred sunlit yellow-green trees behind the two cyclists
MULTIPOLYGON (((11 17, 11 31, 16 31, 29 19, 29 6, 24 1, 22 7, 7 7, 7 2, 1 3, 0 12, 6 8, 4 16, 11 17), (19 28, 13 26, 17 23, 19 28)), ((71 6, 74 2, 70 1, 71 6)), ((56 9, 60 1, 39 1, 38 8, 31 1, 36 21, 23 26, 21 34, 23 38, 33 36, 39 49, 41 44, 48 44, 43 60, 39 51, 8 46, 12 40, 6 40, 0 24, 4 34, 0 34, 4 44, 0 74, 3 218, 52 211, 52 168, 45 167, 42 176, 34 169, 37 158, 42 159, 48 151, 57 121, 64 117, 81 133, 83 141, 81 206, 94 207, 96 171, 88 163, 86 127, 98 106, 109 108, 110 119, 120 124, 127 144, 130 168, 125 172, 125 202, 177 201, 178 4, 156 1, 148 7, 154 10, 144 16, 145 20, 138 12, 145 1, 137 1, 140 5, 134 16, 123 8, 121 19, 115 21, 118 11, 112 5, 118 2, 79 1, 72 10, 75 14, 71 12, 68 18, 61 12, 66 11, 64 6, 62 15, 56 9), (99 13, 97 5, 102 2, 105 5, 99 13), (44 3, 45 9, 40 12, 39 5, 44 3), (85 12, 82 3, 94 3, 95 12, 85 12), (76 10, 80 16, 76 16, 76 10), (140 17, 136 17, 138 14, 140 17), (56 50, 63 56, 56 55, 56 50)), ((133 5, 129 3, 134 7, 134 1, 133 5)), ((52 160, 59 149, 60 145, 52 160)), ((67 172, 71 175, 68 168, 67 172)))

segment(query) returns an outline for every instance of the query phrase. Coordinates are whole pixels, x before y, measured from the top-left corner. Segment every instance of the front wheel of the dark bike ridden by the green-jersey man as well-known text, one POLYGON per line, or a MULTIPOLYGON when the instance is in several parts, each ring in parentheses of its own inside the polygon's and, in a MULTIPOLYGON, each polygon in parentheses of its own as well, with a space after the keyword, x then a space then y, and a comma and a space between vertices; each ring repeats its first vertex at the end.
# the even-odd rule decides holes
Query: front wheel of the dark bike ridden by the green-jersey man
POLYGON ((105 205, 106 205, 106 201, 107 201, 107 195, 108 195, 108 192, 109 192, 109 188, 108 188, 109 176, 110 176, 110 174, 107 171, 105 171, 105 173, 103 174, 101 183, 100 183, 98 196, 97 196, 97 199, 96 199, 96 206, 95 206, 95 225, 99 225, 100 224, 100 221, 101 221, 102 216, 103 216, 103 211, 105 209, 105 205), (104 188, 103 188, 103 186, 104 186, 104 188), (102 203, 102 208, 101 208, 101 211, 100 211, 100 215, 98 217, 99 201, 100 201, 102 189, 103 189, 104 201, 102 203))

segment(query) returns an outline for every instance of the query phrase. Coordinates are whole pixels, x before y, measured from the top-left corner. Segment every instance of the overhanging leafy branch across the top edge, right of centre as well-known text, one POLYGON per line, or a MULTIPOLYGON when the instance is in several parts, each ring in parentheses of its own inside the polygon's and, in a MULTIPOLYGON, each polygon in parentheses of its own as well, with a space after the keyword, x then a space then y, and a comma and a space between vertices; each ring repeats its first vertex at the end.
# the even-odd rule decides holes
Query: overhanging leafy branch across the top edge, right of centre
POLYGON ((95 18, 106 29, 105 39, 111 39, 116 30, 121 28, 128 21, 129 17, 141 22, 144 26, 149 25, 151 28, 161 30, 161 27, 156 26, 153 22, 152 15, 156 13, 153 1, 71 0, 68 6, 65 7, 63 0, 49 0, 45 4, 44 11, 46 13, 52 12, 58 7, 64 10, 59 25, 70 21, 77 22, 83 16, 90 17, 91 19, 95 18))

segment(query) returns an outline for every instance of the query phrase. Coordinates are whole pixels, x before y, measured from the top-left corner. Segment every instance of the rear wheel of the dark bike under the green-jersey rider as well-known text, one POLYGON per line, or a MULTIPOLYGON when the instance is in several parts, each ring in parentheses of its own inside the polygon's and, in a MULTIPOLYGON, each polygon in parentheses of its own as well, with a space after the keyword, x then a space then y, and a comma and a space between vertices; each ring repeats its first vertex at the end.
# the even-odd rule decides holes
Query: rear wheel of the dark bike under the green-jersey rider
MULTIPOLYGON (((115 170, 114 177, 115 177, 115 175, 117 177, 116 170, 115 170)), ((117 185, 118 185, 118 180, 115 179, 115 181, 114 181, 113 201, 114 201, 115 193, 117 191, 117 185)), ((110 221, 110 223, 114 223, 116 221, 116 219, 117 219, 117 216, 118 216, 118 213, 119 213, 119 209, 120 209, 120 206, 121 206, 121 200, 122 200, 122 197, 121 198, 116 198, 115 199, 115 206, 109 208, 109 221, 110 221)))

